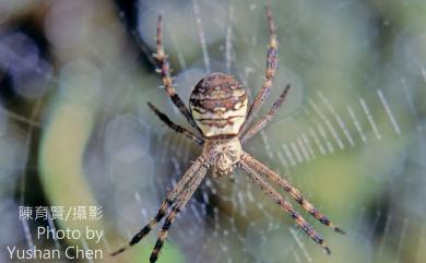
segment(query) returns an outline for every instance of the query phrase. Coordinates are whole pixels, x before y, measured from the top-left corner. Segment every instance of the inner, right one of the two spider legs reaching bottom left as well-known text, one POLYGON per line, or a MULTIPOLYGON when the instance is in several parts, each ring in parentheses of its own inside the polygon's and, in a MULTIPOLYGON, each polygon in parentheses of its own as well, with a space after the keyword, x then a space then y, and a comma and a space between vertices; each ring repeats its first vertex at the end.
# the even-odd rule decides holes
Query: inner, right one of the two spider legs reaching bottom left
POLYGON ((162 229, 158 232, 157 241, 155 242, 154 249, 150 256, 150 262, 154 263, 157 261, 158 253, 163 248, 164 241, 166 240, 168 229, 170 228, 171 224, 174 223, 176 215, 181 212, 181 210, 185 207, 185 205, 188 203, 188 201, 191 199, 192 194, 196 192, 196 190, 199 188, 201 181, 204 179, 204 176, 208 171, 208 166, 202 166, 194 177, 192 178, 192 181, 185 188, 184 192, 179 196, 178 201, 171 208, 171 212, 167 215, 164 225, 162 229))

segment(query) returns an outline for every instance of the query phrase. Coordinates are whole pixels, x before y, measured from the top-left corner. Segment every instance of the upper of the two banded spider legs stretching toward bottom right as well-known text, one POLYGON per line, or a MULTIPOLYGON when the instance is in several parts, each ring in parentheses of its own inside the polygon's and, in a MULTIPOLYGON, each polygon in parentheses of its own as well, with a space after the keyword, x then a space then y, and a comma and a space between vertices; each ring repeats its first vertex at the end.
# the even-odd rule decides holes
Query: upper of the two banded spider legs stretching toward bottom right
POLYGON ((259 171, 260 174, 264 174, 270 180, 277 183, 281 188, 283 188, 286 192, 288 192, 294 200, 298 204, 304 207, 305 211, 307 211, 310 215, 312 215, 317 220, 319 220, 321 224, 331 227, 334 231, 340 234, 345 234, 344 230, 333 225, 333 223, 321 212, 319 212, 309 201, 307 201, 304 195, 300 193, 299 190, 297 190, 289 181, 287 181, 285 178, 281 177, 273 170, 271 170, 268 166, 263 165, 259 160, 255 159, 252 156, 250 156, 247 153, 244 153, 241 155, 241 159, 250 166, 252 169, 259 171))

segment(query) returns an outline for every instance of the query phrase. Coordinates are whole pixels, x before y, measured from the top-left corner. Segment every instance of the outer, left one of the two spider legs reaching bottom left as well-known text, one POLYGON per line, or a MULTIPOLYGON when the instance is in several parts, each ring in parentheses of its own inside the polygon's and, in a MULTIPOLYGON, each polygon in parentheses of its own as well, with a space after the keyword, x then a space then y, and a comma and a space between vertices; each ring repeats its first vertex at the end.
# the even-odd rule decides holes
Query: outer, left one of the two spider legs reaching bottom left
POLYGON ((197 175, 199 175, 200 170, 204 170, 204 159, 199 157, 192 166, 185 172, 180 181, 175 186, 175 188, 169 192, 166 196, 166 200, 162 203, 159 206, 159 210, 154 218, 152 218, 137 235, 133 236, 133 238, 129 241, 129 243, 121 249, 110 253, 110 255, 117 255, 133 244, 138 243, 141 241, 142 238, 144 238, 152 228, 154 228, 158 222, 163 219, 163 217, 166 215, 167 208, 173 205, 178 196, 185 192, 186 186, 190 183, 192 178, 194 178, 197 175))

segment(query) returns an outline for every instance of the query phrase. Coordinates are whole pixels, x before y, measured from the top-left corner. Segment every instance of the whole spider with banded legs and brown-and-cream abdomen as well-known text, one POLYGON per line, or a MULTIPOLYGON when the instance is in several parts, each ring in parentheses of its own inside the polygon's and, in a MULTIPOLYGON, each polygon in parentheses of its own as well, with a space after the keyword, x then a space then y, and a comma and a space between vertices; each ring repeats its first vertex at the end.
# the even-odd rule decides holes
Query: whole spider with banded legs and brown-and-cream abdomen
POLYGON ((271 121, 291 88, 291 85, 288 84, 283 89, 280 98, 273 104, 269 112, 255 123, 255 125, 249 127, 264 99, 268 97, 272 87, 272 81, 275 75, 277 63, 275 25, 272 19, 271 8, 268 5, 265 10, 270 34, 265 80, 251 105, 248 105, 247 92, 241 84, 239 84, 232 75, 215 72, 205 75, 196 85, 190 95, 190 107, 188 108, 173 87, 169 62, 162 43, 162 16, 158 16, 156 53, 154 53, 154 58, 159 64, 158 72, 162 75, 162 81, 167 96, 170 97, 171 101, 186 117, 191 127, 196 129, 197 133, 174 123, 165 113, 159 111, 151 103, 147 103, 149 107, 170 129, 197 142, 203 147, 203 150, 202 154, 184 174, 180 181, 167 194, 165 201, 161 204, 156 216, 152 218, 126 247, 113 252, 111 255, 117 255, 141 241, 141 239, 144 238, 151 229, 156 227, 156 225, 166 216, 150 256, 150 262, 155 262, 176 215, 182 211, 210 168, 213 169, 213 178, 230 176, 235 168, 241 168, 245 170, 252 182, 258 184, 269 198, 279 204, 281 208, 296 222, 298 227, 313 239, 315 242, 322 247, 327 254, 330 254, 331 251, 324 243, 321 236, 318 235, 317 231, 300 216, 300 214, 294 210, 289 202, 285 201, 283 196, 267 182, 264 177, 276 183, 284 191, 288 192, 305 211, 320 223, 331 227, 338 232, 344 234, 341 228, 334 226, 327 216, 307 201, 299 190, 293 187, 288 180, 271 170, 261 162, 257 160, 241 147, 245 142, 247 142, 271 121), (169 213, 167 214, 168 211, 169 213))

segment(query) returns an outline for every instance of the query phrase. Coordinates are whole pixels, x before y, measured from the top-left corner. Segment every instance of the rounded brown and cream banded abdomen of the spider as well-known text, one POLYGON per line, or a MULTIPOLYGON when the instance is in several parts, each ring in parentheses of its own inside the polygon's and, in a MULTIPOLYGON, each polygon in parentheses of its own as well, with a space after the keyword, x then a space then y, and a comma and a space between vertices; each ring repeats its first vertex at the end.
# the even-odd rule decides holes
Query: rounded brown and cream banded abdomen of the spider
POLYGON ((205 138, 232 138, 238 134, 246 120, 247 93, 232 75, 216 72, 197 84, 189 106, 205 138))

